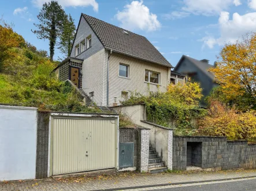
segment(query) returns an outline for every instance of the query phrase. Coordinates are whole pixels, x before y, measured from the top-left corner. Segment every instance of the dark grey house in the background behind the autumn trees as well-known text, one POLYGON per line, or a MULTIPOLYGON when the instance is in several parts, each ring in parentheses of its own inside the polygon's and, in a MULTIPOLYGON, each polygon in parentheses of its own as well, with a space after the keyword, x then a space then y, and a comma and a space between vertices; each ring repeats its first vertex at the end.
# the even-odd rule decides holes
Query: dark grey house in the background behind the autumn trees
POLYGON ((192 81, 200 83, 203 89, 203 98, 201 100, 202 106, 206 106, 204 101, 205 97, 209 96, 213 87, 218 86, 216 79, 214 78, 214 74, 208 71, 209 68, 212 67, 214 66, 209 64, 209 60, 196 60, 183 55, 173 70, 185 74, 187 78, 191 78, 192 81))

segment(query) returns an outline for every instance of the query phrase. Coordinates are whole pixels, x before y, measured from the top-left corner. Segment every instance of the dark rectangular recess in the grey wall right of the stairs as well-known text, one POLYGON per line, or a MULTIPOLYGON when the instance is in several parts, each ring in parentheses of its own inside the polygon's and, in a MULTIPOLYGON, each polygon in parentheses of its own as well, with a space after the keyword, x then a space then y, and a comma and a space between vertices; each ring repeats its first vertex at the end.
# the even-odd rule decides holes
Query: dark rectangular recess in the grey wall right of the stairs
POLYGON ((202 167, 202 142, 187 142, 187 166, 202 167))

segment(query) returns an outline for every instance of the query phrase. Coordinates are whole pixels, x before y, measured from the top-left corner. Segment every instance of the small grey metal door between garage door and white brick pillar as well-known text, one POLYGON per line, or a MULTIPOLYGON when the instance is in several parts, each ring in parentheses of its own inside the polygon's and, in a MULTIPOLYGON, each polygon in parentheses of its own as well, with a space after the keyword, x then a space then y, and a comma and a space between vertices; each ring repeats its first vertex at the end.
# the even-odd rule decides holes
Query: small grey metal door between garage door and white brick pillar
POLYGON ((133 143, 119 144, 119 167, 133 167, 133 143))

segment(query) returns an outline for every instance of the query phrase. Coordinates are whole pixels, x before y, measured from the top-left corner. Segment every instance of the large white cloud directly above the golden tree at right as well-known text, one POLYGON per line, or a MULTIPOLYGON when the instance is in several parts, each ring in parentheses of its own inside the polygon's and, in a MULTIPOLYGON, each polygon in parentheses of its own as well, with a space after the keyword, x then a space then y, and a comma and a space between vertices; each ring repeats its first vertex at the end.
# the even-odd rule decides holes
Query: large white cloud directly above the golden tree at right
POLYGON ((220 37, 214 38, 211 35, 203 37, 198 41, 203 41, 204 45, 213 48, 214 45, 224 45, 225 43, 235 43, 239 37, 242 37, 247 32, 256 30, 256 12, 240 15, 234 13, 232 20, 229 20, 228 12, 221 12, 218 19, 220 28, 220 37))

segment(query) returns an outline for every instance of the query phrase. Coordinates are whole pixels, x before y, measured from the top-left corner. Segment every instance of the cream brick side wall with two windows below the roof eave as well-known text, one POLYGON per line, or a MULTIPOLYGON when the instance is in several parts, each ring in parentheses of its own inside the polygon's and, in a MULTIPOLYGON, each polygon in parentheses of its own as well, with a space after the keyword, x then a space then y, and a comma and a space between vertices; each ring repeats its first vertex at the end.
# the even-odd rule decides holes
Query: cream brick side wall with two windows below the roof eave
POLYGON ((120 101, 123 100, 122 91, 136 91, 142 94, 146 94, 148 90, 165 92, 169 80, 169 67, 113 52, 109 60, 109 105, 112 106, 114 100, 120 105, 120 101), (119 64, 128 66, 128 78, 119 76, 119 64), (159 73, 159 85, 145 82, 145 70, 159 73))

